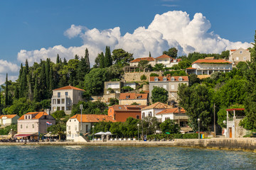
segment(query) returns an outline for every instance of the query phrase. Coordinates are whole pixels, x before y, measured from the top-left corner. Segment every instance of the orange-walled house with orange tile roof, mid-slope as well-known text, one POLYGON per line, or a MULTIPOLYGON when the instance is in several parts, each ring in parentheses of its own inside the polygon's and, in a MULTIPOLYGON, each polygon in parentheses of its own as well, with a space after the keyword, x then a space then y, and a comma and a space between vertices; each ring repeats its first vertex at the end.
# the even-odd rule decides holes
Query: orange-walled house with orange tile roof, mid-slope
POLYGON ((129 117, 141 119, 141 111, 145 107, 142 105, 114 105, 109 107, 107 115, 117 122, 125 122, 129 117))

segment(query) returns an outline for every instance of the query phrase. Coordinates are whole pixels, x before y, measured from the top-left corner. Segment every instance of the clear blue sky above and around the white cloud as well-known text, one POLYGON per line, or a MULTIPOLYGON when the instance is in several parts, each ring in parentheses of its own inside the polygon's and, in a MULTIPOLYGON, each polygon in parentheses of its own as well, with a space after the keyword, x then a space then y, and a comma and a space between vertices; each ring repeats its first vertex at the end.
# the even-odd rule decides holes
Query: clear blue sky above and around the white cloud
MULTIPOLYGON (((230 42, 252 42, 256 30, 255 7, 255 0, 0 0, 0 60, 11 62, 8 64, 9 66, 11 64, 18 64, 19 66, 21 60, 25 61, 26 57, 31 57, 31 60, 29 60, 31 63, 38 61, 32 56, 34 50, 41 50, 41 48, 48 50, 49 47, 55 45, 62 45, 65 48, 88 45, 89 42, 86 42, 88 39, 85 38, 84 34, 87 30, 93 28, 102 31, 119 27, 121 36, 126 33, 133 34, 134 30, 139 27, 147 28, 156 14, 162 15, 168 11, 186 12, 191 21, 196 13, 201 13, 210 23, 210 28, 206 29, 207 33, 213 31, 215 35, 219 35, 220 38, 230 42), (81 26, 82 32, 70 38, 64 33, 72 25, 81 26), (17 58, 18 52, 21 52, 21 50, 26 50, 26 52, 23 52, 23 55, 17 58)), ((174 13, 170 14, 170 16, 175 15, 174 13)), ((203 21, 203 19, 199 19, 199 21, 203 21)), ((161 27, 161 24, 164 24, 163 22, 157 22, 158 26, 161 27)), ((180 21, 169 27, 178 26, 179 23, 180 21)), ((199 26, 201 25, 199 24, 199 26)), ((156 28, 156 30, 159 29, 161 28, 156 28)), ((136 36, 134 35, 134 37, 136 36)), ((203 38, 207 36, 203 35, 203 38)), ((164 35, 164 37, 168 36, 164 35)), ((182 41, 176 41, 174 43, 172 43, 173 41, 162 42, 165 45, 162 49, 171 45, 177 45, 177 47, 180 45, 181 49, 184 48, 181 45, 182 41)), ((98 42, 96 44, 99 45, 98 42)), ((102 46, 105 46, 105 44, 102 46)), ((127 45, 127 42, 125 45, 127 45)), ((113 45, 110 46, 112 50, 114 50, 114 47, 124 47, 124 49, 130 50, 125 45, 122 46, 119 41, 118 43, 113 42, 113 45)), ((159 45, 161 45, 161 42, 159 45)), ((236 46, 230 45, 230 47, 236 46)), ((101 49, 102 47, 99 47, 97 50, 101 49)), ((198 47, 192 49, 205 52, 198 47)), ((149 48, 146 48, 145 53, 148 53, 148 50, 149 48)), ((222 49, 212 52, 220 52, 220 50, 222 49)), ((94 50, 92 49, 92 51, 94 50)), ((188 50, 183 50, 183 53, 187 52, 188 50)), ((71 53, 68 53, 68 55, 71 53)), ((137 53, 135 57, 144 54, 143 52, 134 53, 137 53)), ((49 54, 54 53, 49 52, 49 54)), ((94 53, 92 52, 92 54, 94 53)), ((159 55, 159 52, 155 52, 155 55, 159 55)), ((93 59, 94 56, 92 56, 93 59)), ((17 71, 13 69, 10 72, 13 72, 11 74, 15 76, 17 71)), ((1 69, 0 74, 2 74, 1 69)))

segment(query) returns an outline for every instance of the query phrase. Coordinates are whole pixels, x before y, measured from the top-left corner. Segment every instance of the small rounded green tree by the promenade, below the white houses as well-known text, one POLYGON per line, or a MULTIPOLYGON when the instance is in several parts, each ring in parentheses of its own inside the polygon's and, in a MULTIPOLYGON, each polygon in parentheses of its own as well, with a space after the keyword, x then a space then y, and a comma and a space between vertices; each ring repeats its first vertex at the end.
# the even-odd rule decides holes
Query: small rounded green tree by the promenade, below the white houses
POLYGON ((169 133, 180 133, 180 127, 178 124, 174 123, 174 120, 164 120, 163 123, 160 124, 161 131, 165 134, 169 133))

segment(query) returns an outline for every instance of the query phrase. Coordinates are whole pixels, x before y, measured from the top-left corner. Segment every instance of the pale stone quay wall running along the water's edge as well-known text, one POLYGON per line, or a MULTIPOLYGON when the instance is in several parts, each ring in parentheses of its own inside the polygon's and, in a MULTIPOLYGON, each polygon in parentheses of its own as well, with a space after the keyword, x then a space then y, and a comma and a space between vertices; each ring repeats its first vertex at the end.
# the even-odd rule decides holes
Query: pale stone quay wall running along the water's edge
POLYGON ((119 147, 188 147, 198 149, 218 149, 243 152, 256 152, 256 138, 211 138, 176 139, 174 141, 108 141, 108 142, 0 142, 0 146, 36 145, 36 146, 119 146, 119 147))

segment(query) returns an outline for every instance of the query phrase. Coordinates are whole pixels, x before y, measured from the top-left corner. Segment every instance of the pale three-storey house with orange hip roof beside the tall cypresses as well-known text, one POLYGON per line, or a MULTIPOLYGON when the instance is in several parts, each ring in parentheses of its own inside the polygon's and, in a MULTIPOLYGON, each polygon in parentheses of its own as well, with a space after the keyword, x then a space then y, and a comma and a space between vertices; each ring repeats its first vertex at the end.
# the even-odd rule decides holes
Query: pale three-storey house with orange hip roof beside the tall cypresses
POLYGON ((71 111, 74 104, 84 101, 84 98, 82 98, 84 91, 74 86, 54 89, 51 98, 51 111, 71 111))

